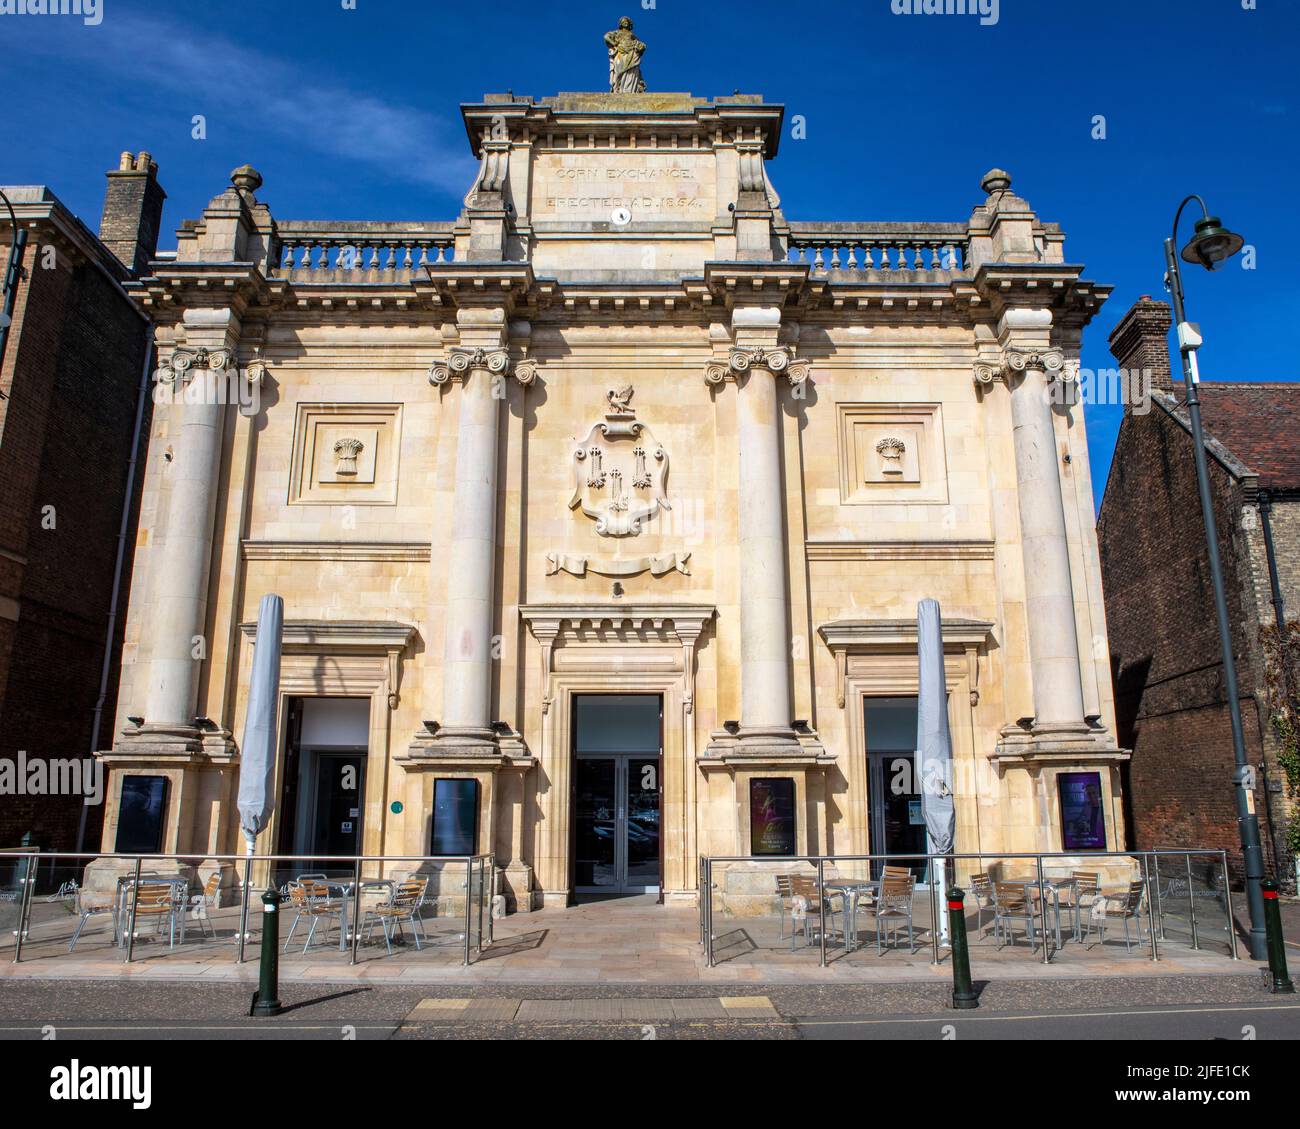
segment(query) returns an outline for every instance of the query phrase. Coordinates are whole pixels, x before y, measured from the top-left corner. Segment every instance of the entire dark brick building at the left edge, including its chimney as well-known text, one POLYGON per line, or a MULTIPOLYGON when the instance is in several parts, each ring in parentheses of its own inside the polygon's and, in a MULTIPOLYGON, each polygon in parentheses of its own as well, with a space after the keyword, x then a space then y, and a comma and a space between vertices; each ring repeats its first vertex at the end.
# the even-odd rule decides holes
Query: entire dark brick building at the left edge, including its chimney
MULTIPOLYGON (((27 243, 0 371, 0 761, 16 766, 0 847, 73 851, 82 829, 94 849, 104 809, 72 770, 113 732, 139 477, 122 511, 152 408, 148 317, 124 284, 153 255, 164 193, 150 155, 125 153, 96 238, 49 189, 4 191, 27 243)), ((5 261, 8 228, 0 209, 5 261)))

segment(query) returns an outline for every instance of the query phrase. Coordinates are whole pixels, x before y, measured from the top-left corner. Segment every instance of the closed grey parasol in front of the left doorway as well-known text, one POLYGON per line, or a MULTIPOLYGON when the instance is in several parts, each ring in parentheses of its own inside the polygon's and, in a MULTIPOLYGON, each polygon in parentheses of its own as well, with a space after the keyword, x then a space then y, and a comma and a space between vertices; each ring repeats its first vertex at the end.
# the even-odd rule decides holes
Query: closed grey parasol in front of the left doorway
MULTIPOLYGON (((244 739, 239 747, 239 826, 254 848, 276 806, 276 722, 280 715, 280 649, 285 635, 285 601, 263 596, 257 610, 257 641, 252 656, 252 678, 248 683, 248 715, 244 739)), ((243 899, 247 935, 248 890, 243 899)))

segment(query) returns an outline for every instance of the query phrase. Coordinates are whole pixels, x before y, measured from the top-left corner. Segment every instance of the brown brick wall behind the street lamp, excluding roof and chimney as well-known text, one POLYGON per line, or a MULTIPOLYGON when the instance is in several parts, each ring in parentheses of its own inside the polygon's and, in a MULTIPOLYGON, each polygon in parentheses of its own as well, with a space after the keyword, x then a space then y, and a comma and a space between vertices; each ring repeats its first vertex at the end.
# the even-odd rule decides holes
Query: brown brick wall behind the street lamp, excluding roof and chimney
MULTIPOLYGON (((1257 619, 1243 496, 1213 459, 1210 477, 1247 756, 1260 766, 1266 718, 1254 696, 1257 619)), ((1232 741, 1191 436, 1158 406, 1123 420, 1097 536, 1118 736, 1134 753, 1132 845, 1223 847, 1239 881, 1232 741)), ((1277 797, 1265 791, 1268 775, 1256 809, 1271 870, 1268 838, 1280 838, 1283 827, 1269 818, 1277 797)))

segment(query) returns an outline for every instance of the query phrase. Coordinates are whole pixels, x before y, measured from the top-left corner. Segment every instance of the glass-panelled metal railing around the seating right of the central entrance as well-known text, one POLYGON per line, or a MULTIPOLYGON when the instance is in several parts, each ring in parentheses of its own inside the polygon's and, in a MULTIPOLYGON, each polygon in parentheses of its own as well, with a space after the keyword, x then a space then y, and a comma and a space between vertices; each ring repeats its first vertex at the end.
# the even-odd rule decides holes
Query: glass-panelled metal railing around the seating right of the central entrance
POLYGON ((944 964, 963 892, 972 964, 1235 956, 1222 852, 712 857, 701 868, 712 964, 944 964))

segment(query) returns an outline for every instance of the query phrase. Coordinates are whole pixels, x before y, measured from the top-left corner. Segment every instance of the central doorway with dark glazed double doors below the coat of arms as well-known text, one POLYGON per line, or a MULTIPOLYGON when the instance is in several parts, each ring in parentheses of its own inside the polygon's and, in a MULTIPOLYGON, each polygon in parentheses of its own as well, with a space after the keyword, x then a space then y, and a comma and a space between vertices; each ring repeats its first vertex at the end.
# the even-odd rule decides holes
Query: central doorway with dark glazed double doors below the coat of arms
POLYGON ((663 700, 575 695, 573 758, 575 891, 658 894, 663 700))

